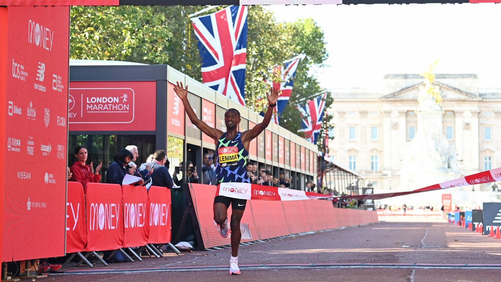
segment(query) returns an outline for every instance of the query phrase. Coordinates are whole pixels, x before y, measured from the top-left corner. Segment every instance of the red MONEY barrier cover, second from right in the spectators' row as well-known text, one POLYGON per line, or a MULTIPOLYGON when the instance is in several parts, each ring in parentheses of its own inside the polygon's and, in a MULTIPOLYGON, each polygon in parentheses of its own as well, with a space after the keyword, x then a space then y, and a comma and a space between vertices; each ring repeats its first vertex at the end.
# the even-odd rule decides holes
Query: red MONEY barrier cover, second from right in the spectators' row
POLYGON ((124 242, 122 247, 139 247, 147 244, 146 209, 148 192, 144 186, 122 186, 124 242))

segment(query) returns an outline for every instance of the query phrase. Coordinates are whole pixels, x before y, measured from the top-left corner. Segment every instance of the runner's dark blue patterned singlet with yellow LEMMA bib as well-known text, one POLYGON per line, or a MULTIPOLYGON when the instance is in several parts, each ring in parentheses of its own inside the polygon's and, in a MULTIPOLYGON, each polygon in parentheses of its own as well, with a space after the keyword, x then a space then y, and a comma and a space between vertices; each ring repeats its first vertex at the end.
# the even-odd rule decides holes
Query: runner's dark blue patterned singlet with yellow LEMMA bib
POLYGON ((235 138, 226 140, 226 132, 219 138, 217 145, 217 181, 250 183, 245 166, 248 152, 243 147, 238 132, 235 138))

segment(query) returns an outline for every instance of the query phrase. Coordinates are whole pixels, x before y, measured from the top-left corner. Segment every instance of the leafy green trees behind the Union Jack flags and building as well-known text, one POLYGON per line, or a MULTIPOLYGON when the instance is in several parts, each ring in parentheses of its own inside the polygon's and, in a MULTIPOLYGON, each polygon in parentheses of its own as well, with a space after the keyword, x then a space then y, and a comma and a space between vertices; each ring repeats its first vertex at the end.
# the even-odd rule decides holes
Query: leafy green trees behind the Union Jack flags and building
MULTIPOLYGON (((197 39, 188 15, 204 8, 72 7, 70 58, 168 64, 201 81, 197 39)), ((305 55, 281 117, 282 126, 299 134, 301 116, 296 104, 322 90, 311 69, 322 67, 327 59, 324 34, 313 19, 279 23, 263 6, 248 7, 247 25, 245 102, 250 109, 266 109, 269 84, 264 80, 278 79, 271 74, 274 66, 305 55)))

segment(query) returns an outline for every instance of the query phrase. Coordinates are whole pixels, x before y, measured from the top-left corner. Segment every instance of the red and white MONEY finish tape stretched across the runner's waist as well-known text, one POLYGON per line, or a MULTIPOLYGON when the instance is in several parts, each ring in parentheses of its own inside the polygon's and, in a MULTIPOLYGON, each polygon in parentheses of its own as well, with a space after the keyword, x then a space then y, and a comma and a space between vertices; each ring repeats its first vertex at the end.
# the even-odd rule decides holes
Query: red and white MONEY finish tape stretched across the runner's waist
POLYGON ((454 180, 449 180, 446 182, 416 189, 413 191, 395 192, 395 193, 333 197, 331 195, 292 190, 287 188, 264 186, 258 184, 220 183, 218 185, 218 189, 216 190, 216 196, 221 195, 236 199, 264 200, 264 201, 295 201, 295 200, 314 200, 314 199, 326 199, 326 198, 378 200, 378 199, 385 199, 385 198, 391 198, 391 197, 403 196, 421 192, 441 190, 451 187, 483 184, 494 181, 501 181, 501 168, 479 172, 476 174, 460 177, 454 180))

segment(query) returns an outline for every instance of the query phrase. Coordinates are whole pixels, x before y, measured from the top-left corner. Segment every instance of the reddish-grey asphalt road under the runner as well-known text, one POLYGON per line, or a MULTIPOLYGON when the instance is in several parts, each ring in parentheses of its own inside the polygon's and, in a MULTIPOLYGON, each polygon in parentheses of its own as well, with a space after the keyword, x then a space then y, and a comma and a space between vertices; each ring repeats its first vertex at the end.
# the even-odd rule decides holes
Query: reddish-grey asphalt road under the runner
MULTIPOLYGON (((386 218, 385 218, 386 219, 386 218)), ((501 241, 426 218, 391 218, 366 226, 287 237, 241 246, 241 275, 228 276, 229 249, 166 253, 142 262, 97 265, 127 272, 51 274, 51 281, 499 281, 501 241), (410 222, 399 222, 399 221, 410 222), (430 222, 431 221, 431 222, 430 222), (434 221, 434 222, 433 222, 434 221), (361 265, 365 263, 365 265, 361 265), (251 265, 264 266, 251 266, 251 265), (280 265, 296 266, 280 266, 280 265), (304 265, 297 265, 304 264, 304 265), (313 265, 311 265, 313 264, 313 265), (325 264, 325 265, 319 265, 325 264), (339 266, 336 264, 353 264, 339 266), (378 264, 379 266, 372 266, 378 264), (393 265, 392 265, 393 264, 393 265), (414 264, 414 265, 413 265, 414 264), (428 264, 420 266, 420 264, 428 264), (465 268, 481 264, 484 268, 465 268), (224 266, 205 269, 205 266, 224 266), (175 267, 176 269, 173 269, 175 267), (185 269, 199 267, 198 269, 185 269), (146 269, 138 271, 139 268, 146 269), (175 271, 174 271, 175 270, 175 271)))

